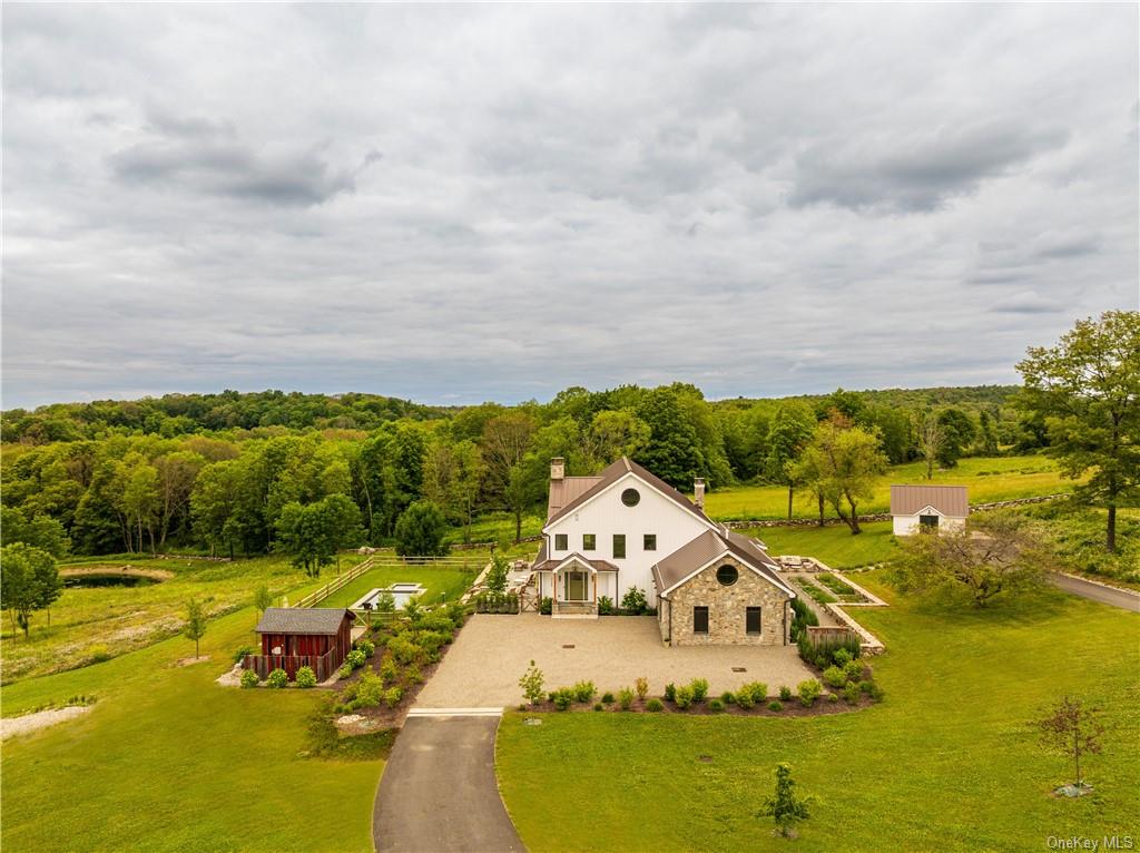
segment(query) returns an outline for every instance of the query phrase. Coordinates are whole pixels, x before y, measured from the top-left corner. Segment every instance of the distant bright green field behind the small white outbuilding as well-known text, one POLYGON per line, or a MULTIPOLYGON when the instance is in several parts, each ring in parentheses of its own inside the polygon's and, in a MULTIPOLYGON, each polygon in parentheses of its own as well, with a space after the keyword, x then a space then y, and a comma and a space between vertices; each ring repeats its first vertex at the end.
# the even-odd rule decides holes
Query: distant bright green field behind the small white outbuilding
MULTIPOLYGON (((912 462, 895 465, 879 478, 874 497, 860 506, 862 513, 887 512, 890 509, 891 484, 925 484, 926 465, 912 462)), ((1057 464, 1045 456, 997 456, 966 458, 948 471, 935 471, 933 485, 968 486, 970 503, 1009 501, 1059 492, 1069 492, 1072 480, 1061 478, 1057 464)), ((788 489, 780 486, 740 486, 710 492, 705 509, 716 519, 787 518, 788 489)), ((792 510, 797 517, 814 518, 814 498, 805 492, 797 496, 792 510)), ((833 514, 829 511, 828 513, 833 514)))

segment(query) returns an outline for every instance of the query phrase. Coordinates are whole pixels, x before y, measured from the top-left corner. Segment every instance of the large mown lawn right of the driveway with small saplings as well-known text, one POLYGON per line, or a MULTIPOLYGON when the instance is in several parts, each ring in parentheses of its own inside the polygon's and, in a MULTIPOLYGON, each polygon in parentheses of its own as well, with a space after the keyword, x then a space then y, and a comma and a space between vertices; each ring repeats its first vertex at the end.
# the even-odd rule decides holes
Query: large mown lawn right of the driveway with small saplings
POLYGON ((540 726, 508 714, 498 773, 527 847, 1034 851, 1049 836, 1140 832, 1140 617, 1053 591, 940 609, 898 601, 876 575, 861 583, 894 607, 860 618, 889 649, 876 661, 882 705, 800 720, 551 714, 540 726), (1050 796, 1072 769, 1033 728, 1065 693, 1105 708, 1104 753, 1085 762, 1096 793, 1080 801, 1050 796), (819 797, 791 846, 754 817, 782 761, 819 797), (568 804, 589 819, 552 819, 568 804))

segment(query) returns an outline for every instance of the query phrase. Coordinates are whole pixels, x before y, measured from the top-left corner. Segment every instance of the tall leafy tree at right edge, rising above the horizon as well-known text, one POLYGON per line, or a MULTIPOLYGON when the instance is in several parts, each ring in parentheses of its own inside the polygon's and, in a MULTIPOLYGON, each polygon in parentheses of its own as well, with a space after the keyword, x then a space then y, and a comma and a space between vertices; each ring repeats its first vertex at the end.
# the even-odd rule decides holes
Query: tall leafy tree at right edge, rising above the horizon
POLYGON ((1017 365, 1023 407, 1044 417, 1066 477, 1091 472, 1074 494, 1108 510, 1105 544, 1116 551, 1116 507, 1140 494, 1140 311, 1078 320, 1056 347, 1031 347, 1017 365))

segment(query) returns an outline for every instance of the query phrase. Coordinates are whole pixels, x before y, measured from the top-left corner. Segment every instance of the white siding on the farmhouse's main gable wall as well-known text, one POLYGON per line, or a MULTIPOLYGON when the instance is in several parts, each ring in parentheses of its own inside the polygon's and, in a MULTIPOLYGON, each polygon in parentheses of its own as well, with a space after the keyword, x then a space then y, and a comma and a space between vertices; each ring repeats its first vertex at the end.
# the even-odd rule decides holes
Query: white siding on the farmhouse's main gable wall
POLYGON ((613 588, 613 582, 605 578, 600 582, 598 595, 609 594, 614 606, 620 606, 626 591, 638 586, 645 591, 645 598, 652 607, 657 603, 653 575, 650 571, 653 563, 682 545, 687 545, 707 529, 709 528, 703 521, 675 501, 661 495, 638 477, 627 474, 577 511, 546 527, 547 557, 559 560, 567 554, 578 552, 588 559, 608 560, 619 569, 617 580, 619 588, 613 593, 606 592, 613 588), (641 502, 636 506, 626 506, 621 503, 621 493, 627 488, 636 488, 641 493, 641 502), (554 549, 556 534, 567 534, 567 549, 554 549), (594 534, 597 537, 597 547, 594 551, 583 550, 584 534, 594 534), (614 534, 625 534, 624 559, 613 557, 614 534), (657 535, 656 551, 644 550, 645 534, 657 535))

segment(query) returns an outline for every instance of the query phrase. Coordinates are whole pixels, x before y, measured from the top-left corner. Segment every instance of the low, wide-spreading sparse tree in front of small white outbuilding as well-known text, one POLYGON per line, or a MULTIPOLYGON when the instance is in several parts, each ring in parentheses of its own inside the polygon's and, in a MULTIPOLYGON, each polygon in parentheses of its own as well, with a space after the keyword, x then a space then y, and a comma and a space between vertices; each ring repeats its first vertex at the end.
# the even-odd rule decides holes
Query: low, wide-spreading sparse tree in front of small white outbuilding
POLYGON ((983 607, 1000 592, 1040 585, 1047 555, 1027 519, 991 512, 971 515, 960 531, 906 537, 890 578, 903 592, 966 587, 983 607))

